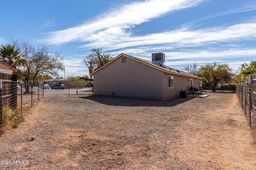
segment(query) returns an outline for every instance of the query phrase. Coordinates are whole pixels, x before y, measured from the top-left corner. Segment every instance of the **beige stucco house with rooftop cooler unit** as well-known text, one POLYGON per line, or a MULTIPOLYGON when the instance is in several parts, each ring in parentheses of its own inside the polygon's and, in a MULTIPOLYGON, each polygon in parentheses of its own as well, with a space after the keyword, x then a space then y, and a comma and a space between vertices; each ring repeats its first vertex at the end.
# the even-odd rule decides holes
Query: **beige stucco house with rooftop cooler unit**
POLYGON ((92 72, 94 95, 168 100, 182 88, 199 88, 201 78, 165 66, 163 53, 152 54, 152 62, 120 54, 92 72))

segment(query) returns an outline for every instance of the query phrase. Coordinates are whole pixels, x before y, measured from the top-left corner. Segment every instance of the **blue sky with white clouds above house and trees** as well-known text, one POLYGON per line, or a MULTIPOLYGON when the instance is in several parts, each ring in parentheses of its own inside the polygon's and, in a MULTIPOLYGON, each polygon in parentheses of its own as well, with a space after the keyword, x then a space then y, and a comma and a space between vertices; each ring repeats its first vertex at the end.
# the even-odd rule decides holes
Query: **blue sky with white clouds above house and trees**
MULTIPOLYGON (((227 63, 234 72, 256 60, 255 0, 6 0, 0 44, 46 43, 64 55, 65 74, 88 75, 92 48, 166 65, 227 63)), ((60 72, 64 76, 64 72, 60 72)))

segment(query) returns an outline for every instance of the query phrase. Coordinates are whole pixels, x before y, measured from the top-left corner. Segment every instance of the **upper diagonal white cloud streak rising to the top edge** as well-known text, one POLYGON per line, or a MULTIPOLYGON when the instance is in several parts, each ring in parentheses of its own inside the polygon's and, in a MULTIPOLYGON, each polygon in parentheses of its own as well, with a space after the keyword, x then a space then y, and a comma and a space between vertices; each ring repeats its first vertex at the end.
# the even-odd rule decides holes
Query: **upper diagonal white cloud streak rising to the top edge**
POLYGON ((125 30, 128 27, 150 21, 171 11, 196 6, 201 1, 203 0, 149 0, 125 4, 83 25, 48 33, 42 41, 48 44, 62 44, 72 41, 93 41, 106 34, 127 36, 125 30))

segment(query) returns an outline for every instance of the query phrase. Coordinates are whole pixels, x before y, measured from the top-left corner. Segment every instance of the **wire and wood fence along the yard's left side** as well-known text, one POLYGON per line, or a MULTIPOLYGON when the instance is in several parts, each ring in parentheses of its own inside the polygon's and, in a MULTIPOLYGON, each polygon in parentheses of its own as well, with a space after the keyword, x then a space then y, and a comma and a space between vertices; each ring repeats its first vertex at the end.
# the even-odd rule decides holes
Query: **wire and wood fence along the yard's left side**
POLYGON ((0 80, 0 135, 16 127, 36 102, 44 97, 39 82, 0 80))

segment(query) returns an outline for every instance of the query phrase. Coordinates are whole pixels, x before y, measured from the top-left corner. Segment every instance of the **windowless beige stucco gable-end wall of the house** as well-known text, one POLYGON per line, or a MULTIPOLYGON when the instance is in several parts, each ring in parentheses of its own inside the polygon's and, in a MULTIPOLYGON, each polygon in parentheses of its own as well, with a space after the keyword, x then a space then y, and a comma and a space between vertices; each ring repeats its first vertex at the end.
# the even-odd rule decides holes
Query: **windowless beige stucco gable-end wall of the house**
POLYGON ((163 72, 126 57, 121 57, 94 73, 94 95, 163 98, 163 72))

